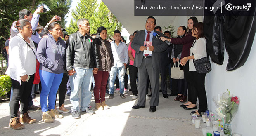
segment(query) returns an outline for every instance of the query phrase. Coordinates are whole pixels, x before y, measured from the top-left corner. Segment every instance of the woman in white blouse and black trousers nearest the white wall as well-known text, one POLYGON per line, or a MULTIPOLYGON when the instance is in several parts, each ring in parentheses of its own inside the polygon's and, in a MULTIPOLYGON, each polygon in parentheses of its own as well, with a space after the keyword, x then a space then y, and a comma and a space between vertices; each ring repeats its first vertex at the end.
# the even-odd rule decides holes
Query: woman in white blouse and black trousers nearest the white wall
MULTIPOLYGON (((204 87, 205 75, 197 73, 197 70, 194 66, 193 60, 201 59, 207 56, 206 53, 206 39, 204 38, 204 24, 199 22, 194 24, 192 30, 192 36, 196 38, 192 47, 190 48, 190 56, 184 57, 181 59, 181 65, 185 65, 189 60, 189 71, 193 78, 193 85, 195 87, 195 92, 199 99, 199 109, 195 111, 197 116, 201 116, 201 112, 207 110, 207 97, 204 87)), ((197 98, 192 98, 192 105, 196 106, 197 98)))

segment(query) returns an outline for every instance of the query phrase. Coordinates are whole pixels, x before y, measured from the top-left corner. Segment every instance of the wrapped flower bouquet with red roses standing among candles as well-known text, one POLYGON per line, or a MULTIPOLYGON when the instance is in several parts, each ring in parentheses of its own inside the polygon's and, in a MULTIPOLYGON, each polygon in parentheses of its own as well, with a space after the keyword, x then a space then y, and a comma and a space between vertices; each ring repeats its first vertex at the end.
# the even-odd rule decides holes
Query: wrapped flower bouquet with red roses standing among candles
MULTIPOLYGON (((227 89, 228 91, 228 89, 227 89)), ((218 107, 216 112, 222 118, 224 124, 224 134, 231 136, 231 122, 237 113, 240 100, 237 96, 233 97, 230 91, 213 97, 213 102, 218 107)))

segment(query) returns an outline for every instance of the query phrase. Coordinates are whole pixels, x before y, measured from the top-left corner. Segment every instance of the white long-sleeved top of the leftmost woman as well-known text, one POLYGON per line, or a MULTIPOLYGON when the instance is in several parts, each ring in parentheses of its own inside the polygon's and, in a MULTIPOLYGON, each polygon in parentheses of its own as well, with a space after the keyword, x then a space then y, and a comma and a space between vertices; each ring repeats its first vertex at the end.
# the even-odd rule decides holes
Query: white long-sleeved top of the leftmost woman
MULTIPOLYGON (((36 54, 36 47, 28 38, 28 43, 36 54)), ((36 73, 36 56, 26 44, 20 33, 10 39, 9 42, 9 66, 5 74, 9 75, 12 79, 17 80, 21 85, 20 77, 24 75, 33 75, 36 73)))

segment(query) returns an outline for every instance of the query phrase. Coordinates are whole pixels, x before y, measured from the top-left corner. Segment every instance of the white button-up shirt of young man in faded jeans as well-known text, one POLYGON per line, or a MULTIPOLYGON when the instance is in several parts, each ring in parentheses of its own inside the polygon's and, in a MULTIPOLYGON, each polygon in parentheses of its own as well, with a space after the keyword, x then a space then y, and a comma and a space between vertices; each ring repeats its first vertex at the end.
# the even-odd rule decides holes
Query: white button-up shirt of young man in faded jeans
MULTIPOLYGON (((128 63, 128 48, 124 42, 119 43, 117 46, 115 40, 111 42, 112 54, 114 58, 114 63, 117 64, 117 67, 120 68, 123 66, 123 63, 128 63)), ((115 66, 115 64, 114 64, 115 66)))

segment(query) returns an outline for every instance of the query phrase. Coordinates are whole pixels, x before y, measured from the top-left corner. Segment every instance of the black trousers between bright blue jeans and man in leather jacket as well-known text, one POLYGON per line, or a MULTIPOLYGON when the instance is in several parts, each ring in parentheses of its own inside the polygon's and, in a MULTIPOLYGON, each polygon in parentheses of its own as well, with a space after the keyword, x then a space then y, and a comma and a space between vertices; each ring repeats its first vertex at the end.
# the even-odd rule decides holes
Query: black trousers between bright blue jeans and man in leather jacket
MULTIPOLYGON (((68 83, 69 75, 67 73, 63 73, 62 82, 59 85, 58 93, 59 93, 59 107, 62 106, 65 102, 65 96, 66 96, 66 84, 68 83)), ((56 94, 57 99, 57 94, 56 94)), ((56 99, 55 99, 55 105, 56 105, 56 99)))

